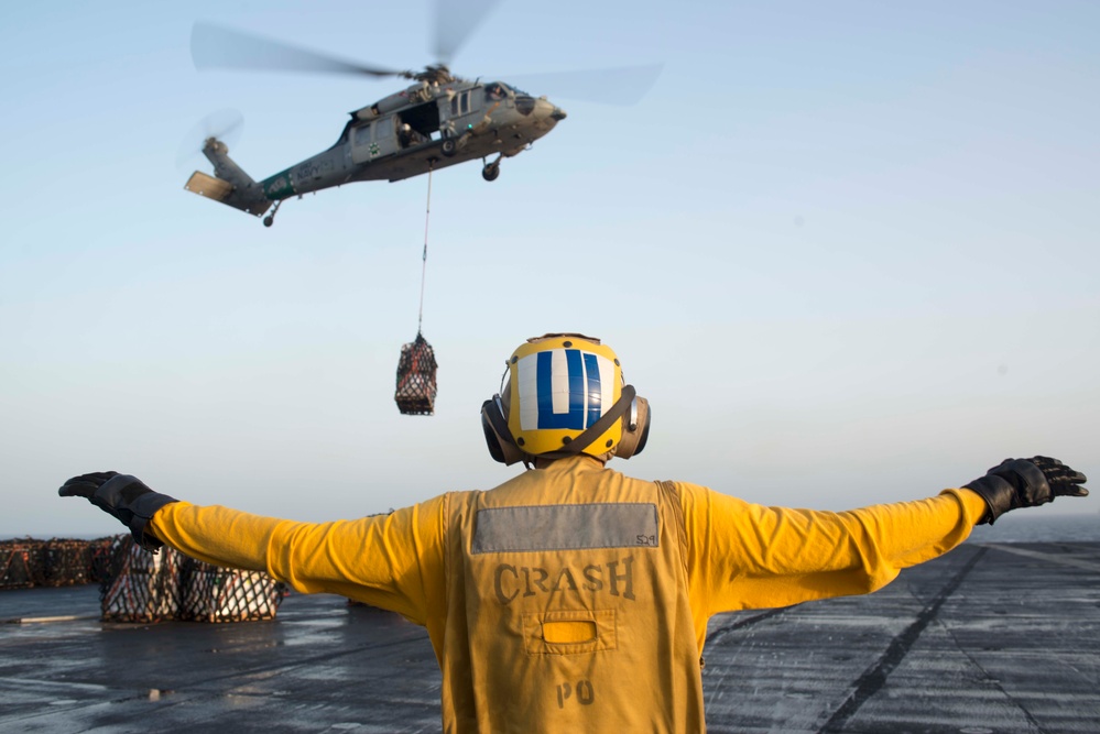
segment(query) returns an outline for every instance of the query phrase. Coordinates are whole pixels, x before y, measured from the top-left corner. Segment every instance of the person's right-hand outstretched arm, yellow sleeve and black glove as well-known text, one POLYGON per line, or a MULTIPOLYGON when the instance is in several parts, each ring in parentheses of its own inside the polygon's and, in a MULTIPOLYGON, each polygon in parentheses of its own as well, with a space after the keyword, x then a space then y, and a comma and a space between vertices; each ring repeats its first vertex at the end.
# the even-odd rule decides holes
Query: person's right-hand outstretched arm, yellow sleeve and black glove
POLYGON ((693 601, 709 615, 868 593, 956 547, 980 522, 1088 494, 1083 481, 1053 459, 1016 459, 967 489, 839 513, 764 507, 680 485, 693 601))

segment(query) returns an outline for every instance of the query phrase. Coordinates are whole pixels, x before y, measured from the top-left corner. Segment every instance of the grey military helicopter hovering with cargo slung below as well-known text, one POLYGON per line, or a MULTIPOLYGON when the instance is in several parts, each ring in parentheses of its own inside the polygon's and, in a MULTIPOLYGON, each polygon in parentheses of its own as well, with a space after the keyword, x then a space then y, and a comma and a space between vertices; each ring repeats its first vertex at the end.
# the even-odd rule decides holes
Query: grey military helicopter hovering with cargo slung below
MULTIPOLYGON (((455 24, 440 19, 437 57, 454 53, 477 22, 476 17, 467 19, 465 28, 448 31, 455 24)), ((400 91, 351 111, 336 143, 327 150, 262 180, 244 173, 217 135, 206 138, 202 152, 214 164, 214 176, 196 171, 185 189, 263 217, 265 227, 274 223, 279 208, 287 199, 355 182, 392 183, 476 160, 482 162, 482 178, 493 182, 500 176, 503 158, 530 149, 566 119, 565 110, 545 96, 534 97, 501 80, 460 78, 451 74, 446 62, 427 65, 421 72, 393 70, 209 23, 194 25, 192 58, 199 69, 320 72, 395 76, 412 81, 400 91)), ((613 80, 613 89, 634 88, 628 89, 625 101, 618 102, 632 103, 652 86, 660 66, 606 72, 613 80)))

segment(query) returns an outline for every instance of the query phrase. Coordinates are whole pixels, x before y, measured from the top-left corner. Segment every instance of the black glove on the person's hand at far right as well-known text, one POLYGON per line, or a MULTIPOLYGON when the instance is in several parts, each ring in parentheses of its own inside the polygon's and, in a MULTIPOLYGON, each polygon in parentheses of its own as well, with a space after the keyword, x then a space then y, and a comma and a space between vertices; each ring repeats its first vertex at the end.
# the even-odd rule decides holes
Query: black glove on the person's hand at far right
POLYGON ((1035 507, 1054 502, 1055 497, 1088 496, 1085 474, 1074 471, 1057 459, 1032 457, 1005 459, 981 479, 962 486, 982 496, 989 511, 978 521, 992 525, 993 521, 1016 507, 1035 507))

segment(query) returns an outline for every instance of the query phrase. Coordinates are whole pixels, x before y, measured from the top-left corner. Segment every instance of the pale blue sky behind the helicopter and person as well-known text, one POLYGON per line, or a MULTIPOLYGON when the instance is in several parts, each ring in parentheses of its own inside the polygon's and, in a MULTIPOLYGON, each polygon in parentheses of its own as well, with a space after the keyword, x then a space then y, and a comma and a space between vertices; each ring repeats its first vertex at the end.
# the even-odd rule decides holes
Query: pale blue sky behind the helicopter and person
POLYGON ((478 409, 553 330, 603 338, 650 398, 645 452, 613 463, 634 475, 825 508, 1008 456, 1100 478, 1100 6, 532 4, 501 2, 454 70, 664 70, 629 108, 529 88, 568 119, 493 184, 436 174, 431 418, 393 404, 426 179, 291 200, 268 230, 176 161, 231 107, 261 178, 403 86, 198 73, 195 21, 416 68, 429 2, 0 10, 0 537, 117 532, 54 495, 106 469, 309 521, 488 489, 522 469, 478 409))

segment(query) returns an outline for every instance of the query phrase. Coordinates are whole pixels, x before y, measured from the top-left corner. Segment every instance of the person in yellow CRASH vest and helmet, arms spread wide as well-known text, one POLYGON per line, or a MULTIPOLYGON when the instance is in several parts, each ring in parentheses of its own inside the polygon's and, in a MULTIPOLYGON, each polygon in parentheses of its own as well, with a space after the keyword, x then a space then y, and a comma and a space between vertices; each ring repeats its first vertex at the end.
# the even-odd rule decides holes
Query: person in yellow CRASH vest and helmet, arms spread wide
POLYGON ((765 507, 607 468, 642 451, 650 410, 600 340, 530 339, 505 377, 482 428, 493 459, 529 471, 487 492, 323 524, 196 506, 116 472, 58 493, 87 497, 146 549, 166 544, 424 625, 448 733, 701 732, 711 615, 869 593, 976 524, 1088 494, 1083 474, 1034 457, 914 502, 765 507))

